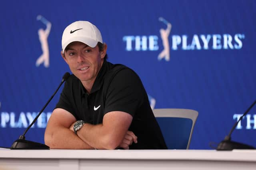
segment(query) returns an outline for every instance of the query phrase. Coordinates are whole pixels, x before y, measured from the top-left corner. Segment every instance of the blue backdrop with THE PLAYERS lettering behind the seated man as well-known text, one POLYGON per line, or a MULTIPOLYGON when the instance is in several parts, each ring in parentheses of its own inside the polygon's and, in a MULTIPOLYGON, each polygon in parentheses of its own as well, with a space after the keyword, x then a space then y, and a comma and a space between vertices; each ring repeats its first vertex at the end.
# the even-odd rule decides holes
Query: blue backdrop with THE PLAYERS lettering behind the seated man
MULTIPOLYGON (((8 0, 1 5, 2 147, 22 135, 70 71, 60 55, 61 37, 77 20, 100 29, 108 61, 138 73, 152 107, 199 112, 190 149, 211 149, 209 143, 224 139, 256 99, 254 0, 8 0), (42 18, 51 28, 48 37, 40 38, 38 30, 46 31, 42 18), (48 67, 36 66, 45 52, 41 44, 48 47, 48 67), (158 57, 164 49, 167 55, 158 57)), ((26 139, 44 142, 44 128, 60 91, 26 139)), ((256 146, 255 111, 237 126, 233 140, 256 146)))

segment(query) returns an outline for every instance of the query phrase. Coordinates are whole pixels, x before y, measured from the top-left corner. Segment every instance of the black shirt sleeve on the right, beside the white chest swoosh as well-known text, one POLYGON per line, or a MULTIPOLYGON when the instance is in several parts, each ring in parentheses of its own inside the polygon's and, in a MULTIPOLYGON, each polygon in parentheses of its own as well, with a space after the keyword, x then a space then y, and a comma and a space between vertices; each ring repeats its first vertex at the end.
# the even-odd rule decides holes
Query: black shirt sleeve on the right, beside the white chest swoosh
POLYGON ((143 92, 142 82, 133 70, 120 70, 108 86, 104 114, 110 111, 124 111, 134 116, 142 105, 143 92))

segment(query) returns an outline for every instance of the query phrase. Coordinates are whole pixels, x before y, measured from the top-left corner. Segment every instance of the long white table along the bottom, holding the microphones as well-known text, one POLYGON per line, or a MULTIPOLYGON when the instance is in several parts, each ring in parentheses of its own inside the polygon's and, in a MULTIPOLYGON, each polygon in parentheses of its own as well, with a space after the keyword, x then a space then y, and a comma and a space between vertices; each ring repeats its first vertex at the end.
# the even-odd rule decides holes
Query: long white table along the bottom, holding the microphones
POLYGON ((9 150, 0 170, 256 170, 256 150, 9 150))

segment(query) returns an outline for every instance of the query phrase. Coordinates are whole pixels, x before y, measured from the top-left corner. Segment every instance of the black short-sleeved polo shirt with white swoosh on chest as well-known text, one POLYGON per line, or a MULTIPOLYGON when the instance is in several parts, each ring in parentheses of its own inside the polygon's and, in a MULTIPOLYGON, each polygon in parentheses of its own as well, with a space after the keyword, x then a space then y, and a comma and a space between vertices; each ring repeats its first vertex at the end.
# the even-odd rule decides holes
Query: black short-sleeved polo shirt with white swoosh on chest
POLYGON ((103 116, 110 111, 124 111, 132 115, 129 131, 138 137, 138 143, 133 143, 130 149, 167 149, 140 78, 124 65, 104 61, 90 94, 72 74, 56 108, 93 125, 102 123, 103 116))

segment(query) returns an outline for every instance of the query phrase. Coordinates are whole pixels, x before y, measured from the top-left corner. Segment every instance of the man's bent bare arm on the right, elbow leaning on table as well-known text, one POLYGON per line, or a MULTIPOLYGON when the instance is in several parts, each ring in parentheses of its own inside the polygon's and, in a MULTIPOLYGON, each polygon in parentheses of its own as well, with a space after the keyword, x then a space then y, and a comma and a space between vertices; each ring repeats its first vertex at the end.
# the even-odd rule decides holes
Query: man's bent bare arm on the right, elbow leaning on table
POLYGON ((131 122, 132 115, 122 111, 111 111, 104 115, 102 124, 86 123, 77 134, 85 143, 96 149, 128 149, 127 146, 132 141, 137 142, 137 137, 133 133, 128 133, 131 122), (131 140, 127 140, 126 136, 132 137, 131 140))

